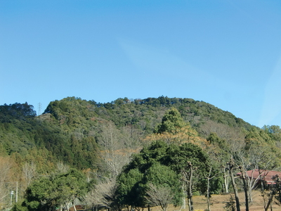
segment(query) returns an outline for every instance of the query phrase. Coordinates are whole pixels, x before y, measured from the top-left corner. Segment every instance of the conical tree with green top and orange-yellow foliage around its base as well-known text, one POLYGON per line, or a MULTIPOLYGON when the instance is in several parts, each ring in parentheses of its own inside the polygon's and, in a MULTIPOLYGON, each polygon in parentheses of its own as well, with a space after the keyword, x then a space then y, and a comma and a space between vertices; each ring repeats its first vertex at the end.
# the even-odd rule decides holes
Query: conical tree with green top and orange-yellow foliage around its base
POLYGON ((184 122, 181 113, 176 108, 166 110, 162 118, 162 122, 156 127, 155 132, 147 136, 144 143, 151 143, 152 141, 162 140, 166 143, 193 143, 201 148, 207 146, 206 139, 198 136, 195 129, 190 127, 190 124, 184 122))

